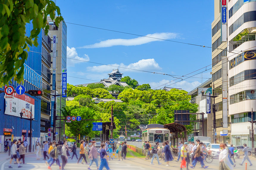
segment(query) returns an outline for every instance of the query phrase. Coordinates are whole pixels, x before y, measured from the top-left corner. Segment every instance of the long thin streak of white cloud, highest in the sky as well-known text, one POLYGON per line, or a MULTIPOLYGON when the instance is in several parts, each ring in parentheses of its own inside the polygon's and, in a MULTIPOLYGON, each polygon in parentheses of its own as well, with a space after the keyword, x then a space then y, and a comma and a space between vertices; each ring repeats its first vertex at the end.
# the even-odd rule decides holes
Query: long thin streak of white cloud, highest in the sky
POLYGON ((171 32, 162 32, 162 33, 154 33, 154 34, 147 34, 147 37, 138 37, 133 39, 110 39, 110 40, 104 40, 99 43, 91 44, 91 45, 85 45, 83 47, 79 48, 102 48, 102 47, 112 47, 115 45, 124 45, 124 46, 131 46, 131 45, 141 45, 150 43, 153 41, 163 41, 158 40, 154 38, 160 38, 160 39, 174 39, 178 36, 177 33, 171 33, 171 32), (154 37, 154 38, 149 38, 154 37))

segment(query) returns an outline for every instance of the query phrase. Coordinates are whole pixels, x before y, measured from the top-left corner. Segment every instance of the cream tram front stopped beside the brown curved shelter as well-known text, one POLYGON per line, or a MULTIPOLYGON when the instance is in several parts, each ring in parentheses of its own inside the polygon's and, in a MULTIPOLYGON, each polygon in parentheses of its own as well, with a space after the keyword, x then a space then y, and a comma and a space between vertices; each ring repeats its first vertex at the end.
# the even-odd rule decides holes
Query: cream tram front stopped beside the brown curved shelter
POLYGON ((159 147, 162 148, 164 141, 171 141, 170 130, 164 128, 160 124, 149 124, 145 130, 142 131, 142 143, 149 141, 151 147, 154 147, 156 142, 159 142, 159 147))

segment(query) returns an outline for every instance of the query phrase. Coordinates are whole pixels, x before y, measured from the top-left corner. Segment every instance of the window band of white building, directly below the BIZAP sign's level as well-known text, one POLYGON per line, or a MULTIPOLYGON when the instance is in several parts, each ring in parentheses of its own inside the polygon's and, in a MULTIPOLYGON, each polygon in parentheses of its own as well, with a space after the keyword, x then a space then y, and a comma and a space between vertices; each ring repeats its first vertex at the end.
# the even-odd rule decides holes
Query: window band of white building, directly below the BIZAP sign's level
POLYGON ((229 78, 229 86, 234 86, 244 80, 256 79, 256 70, 244 70, 229 78))

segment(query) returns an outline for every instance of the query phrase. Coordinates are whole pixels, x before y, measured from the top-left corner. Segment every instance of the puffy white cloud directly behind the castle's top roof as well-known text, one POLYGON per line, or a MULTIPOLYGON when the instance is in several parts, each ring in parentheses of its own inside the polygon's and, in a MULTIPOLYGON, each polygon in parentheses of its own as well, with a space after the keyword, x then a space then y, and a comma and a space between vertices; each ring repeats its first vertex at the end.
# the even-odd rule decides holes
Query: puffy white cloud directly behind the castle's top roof
MULTIPOLYGON (((93 72, 111 72, 113 69, 117 69, 118 67, 125 67, 125 68, 131 68, 136 70, 147 70, 147 71, 154 71, 154 70, 161 70, 162 68, 159 66, 159 64, 155 61, 155 59, 141 59, 138 62, 131 63, 129 65, 125 65, 123 63, 121 64, 109 64, 108 65, 100 65, 100 66, 93 66, 93 67, 87 67, 87 71, 93 71, 93 72), (116 66, 116 67, 113 67, 116 66)), ((121 68, 122 72, 125 71, 136 71, 136 70, 129 70, 121 68)))

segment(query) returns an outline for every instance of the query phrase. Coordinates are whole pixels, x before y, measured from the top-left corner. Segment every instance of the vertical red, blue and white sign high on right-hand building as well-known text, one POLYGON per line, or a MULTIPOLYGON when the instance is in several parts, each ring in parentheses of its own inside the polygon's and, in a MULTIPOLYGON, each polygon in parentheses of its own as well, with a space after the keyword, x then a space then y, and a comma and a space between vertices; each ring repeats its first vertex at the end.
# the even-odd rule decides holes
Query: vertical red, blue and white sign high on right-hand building
POLYGON ((227 42, 227 0, 221 2, 221 42, 227 42))

